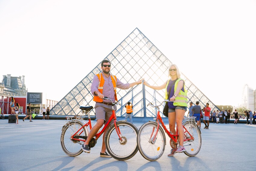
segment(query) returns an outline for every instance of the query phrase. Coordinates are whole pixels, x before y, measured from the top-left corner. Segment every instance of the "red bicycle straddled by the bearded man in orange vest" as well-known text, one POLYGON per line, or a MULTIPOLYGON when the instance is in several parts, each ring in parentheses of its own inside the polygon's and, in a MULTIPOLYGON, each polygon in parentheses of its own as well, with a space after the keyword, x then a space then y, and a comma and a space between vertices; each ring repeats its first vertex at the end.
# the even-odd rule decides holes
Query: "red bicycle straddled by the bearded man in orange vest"
MULTIPOLYGON (((110 100, 104 97, 106 100, 110 100)), ((114 123, 106 130, 105 145, 109 154, 117 160, 127 160, 133 157, 137 151, 137 135, 138 129, 133 124, 126 120, 116 120, 116 113, 114 105, 121 105, 119 102, 113 102, 112 115, 109 120, 105 123, 103 129, 95 135, 95 138, 89 142, 89 148, 96 145, 97 140, 109 126, 110 122, 114 120, 114 123)), ((67 123, 62 128, 60 143, 63 151, 69 156, 78 156, 83 152, 81 146, 86 141, 89 134, 88 126, 91 130, 91 117, 90 111, 93 109, 92 106, 80 106, 82 115, 75 115, 74 119, 67 117, 67 123), (88 115, 88 122, 85 123, 83 118, 88 115)))

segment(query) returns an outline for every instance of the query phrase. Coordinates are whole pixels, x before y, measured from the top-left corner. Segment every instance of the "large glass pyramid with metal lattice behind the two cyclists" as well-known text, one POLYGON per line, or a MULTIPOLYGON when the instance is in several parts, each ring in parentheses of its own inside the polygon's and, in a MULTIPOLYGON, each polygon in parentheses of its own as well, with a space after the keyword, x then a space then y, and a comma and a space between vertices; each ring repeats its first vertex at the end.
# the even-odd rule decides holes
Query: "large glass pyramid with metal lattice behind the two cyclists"
MULTIPOLYGON (((138 29, 128 35, 106 58, 111 62, 110 73, 116 75, 123 83, 132 83, 144 78, 150 85, 162 85, 168 79, 168 69, 172 62, 138 29)), ((102 59, 103 60, 103 59, 102 59)), ((79 107, 93 106, 95 102, 90 92, 92 79, 95 74, 101 72, 101 61, 97 66, 74 87, 58 104, 50 111, 51 115, 76 115, 81 112, 79 107)), ((199 101, 201 106, 209 103, 211 110, 218 108, 194 85, 185 75, 188 90, 188 101, 194 104, 199 101)), ((164 100, 164 89, 153 90, 143 84, 134 86, 128 90, 117 89, 117 97, 121 107, 117 110, 118 117, 124 117, 125 104, 130 101, 133 104, 133 119, 147 120, 156 117, 156 109, 147 107, 149 102, 161 102, 164 100)), ((189 104, 188 104, 189 106, 189 104)), ((164 105, 160 107, 162 111, 164 105)), ((188 112, 188 111, 187 111, 188 112)), ((186 113, 187 113, 186 112, 186 113)), ((95 115, 93 109, 90 113, 95 115)), ((161 113, 162 114, 162 113, 161 113)), ((164 115, 162 115, 164 117, 164 115)))

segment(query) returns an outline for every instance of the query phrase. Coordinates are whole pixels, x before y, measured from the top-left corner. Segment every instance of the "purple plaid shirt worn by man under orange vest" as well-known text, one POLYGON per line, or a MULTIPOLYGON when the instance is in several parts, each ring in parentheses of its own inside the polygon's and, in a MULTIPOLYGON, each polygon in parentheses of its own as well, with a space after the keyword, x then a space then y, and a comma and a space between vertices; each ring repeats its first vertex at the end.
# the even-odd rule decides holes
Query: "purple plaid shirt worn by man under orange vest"
MULTIPOLYGON (((110 75, 109 77, 106 77, 102 73, 102 76, 105 80, 102 94, 104 95, 104 97, 109 97, 109 99, 115 101, 115 90, 114 90, 114 85, 112 83, 110 75)), ((95 91, 99 91, 98 86, 99 86, 99 78, 97 75, 94 75, 92 80, 92 86, 91 86, 91 93, 93 96, 96 96, 96 94, 94 94, 95 91)), ((125 89, 129 89, 130 84, 129 83, 124 84, 120 80, 118 80, 118 78, 116 78, 116 87, 125 90, 125 89)), ((103 99, 103 102, 110 103, 109 100, 104 100, 104 99, 103 99)))

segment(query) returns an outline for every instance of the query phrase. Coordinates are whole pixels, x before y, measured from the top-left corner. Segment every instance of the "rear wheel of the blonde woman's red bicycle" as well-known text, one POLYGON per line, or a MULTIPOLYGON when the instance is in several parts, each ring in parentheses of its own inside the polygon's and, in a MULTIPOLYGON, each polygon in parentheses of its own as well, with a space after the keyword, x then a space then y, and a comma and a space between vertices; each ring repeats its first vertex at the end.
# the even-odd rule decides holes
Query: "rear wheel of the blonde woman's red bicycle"
MULTIPOLYGON (((193 140, 188 140, 183 142, 183 146, 185 146, 186 148, 186 151, 184 151, 184 153, 190 157, 196 156, 199 153, 202 145, 200 130, 197 127, 196 123, 194 122, 186 122, 184 123, 183 126, 194 137, 193 140)), ((190 136, 190 135, 188 133, 185 133, 184 136, 190 136)))

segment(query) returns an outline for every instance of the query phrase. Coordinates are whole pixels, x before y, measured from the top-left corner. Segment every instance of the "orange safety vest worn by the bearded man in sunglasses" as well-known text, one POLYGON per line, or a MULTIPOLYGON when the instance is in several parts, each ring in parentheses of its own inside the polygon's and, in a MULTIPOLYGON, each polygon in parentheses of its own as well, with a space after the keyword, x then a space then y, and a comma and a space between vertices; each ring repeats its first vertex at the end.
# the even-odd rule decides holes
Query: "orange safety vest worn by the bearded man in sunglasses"
MULTIPOLYGON (((102 73, 100 74, 96 74, 99 78, 99 86, 98 86, 98 90, 101 94, 103 94, 103 85, 104 85, 104 77, 102 76, 102 73)), ((116 96, 116 76, 115 75, 110 75, 113 86, 114 86, 114 90, 115 90, 115 100, 117 100, 117 96, 116 96)), ((96 102, 103 102, 103 99, 99 98, 99 96, 93 96, 93 101, 96 102)))

